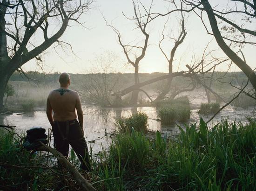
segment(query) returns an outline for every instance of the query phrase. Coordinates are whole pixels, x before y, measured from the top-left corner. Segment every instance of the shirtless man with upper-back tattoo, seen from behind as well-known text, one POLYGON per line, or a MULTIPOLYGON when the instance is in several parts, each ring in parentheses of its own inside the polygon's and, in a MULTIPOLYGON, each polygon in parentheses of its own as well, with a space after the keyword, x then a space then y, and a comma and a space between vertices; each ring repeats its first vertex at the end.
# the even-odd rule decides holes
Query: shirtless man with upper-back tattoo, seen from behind
POLYGON ((69 144, 81 161, 81 168, 90 171, 88 147, 83 132, 83 111, 79 94, 68 89, 70 76, 62 73, 59 82, 61 87, 50 92, 47 98, 47 117, 52 126, 54 144, 57 151, 68 157, 69 144), (78 121, 76 120, 76 113, 78 121), (54 116, 52 115, 54 111, 54 116))

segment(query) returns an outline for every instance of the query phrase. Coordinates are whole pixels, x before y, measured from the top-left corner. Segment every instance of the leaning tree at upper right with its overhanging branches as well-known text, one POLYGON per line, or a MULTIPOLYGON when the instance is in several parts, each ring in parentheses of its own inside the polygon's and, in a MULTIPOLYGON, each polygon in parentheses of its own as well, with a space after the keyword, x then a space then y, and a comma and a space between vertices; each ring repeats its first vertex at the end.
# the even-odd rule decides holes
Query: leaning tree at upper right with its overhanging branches
MULTIPOLYGON (((253 89, 256 91, 256 73, 255 71, 247 64, 246 59, 242 52, 241 56, 232 50, 232 43, 239 45, 240 48, 243 45, 250 44, 256 45, 255 41, 250 41, 251 38, 255 40, 256 31, 251 28, 252 25, 246 25, 247 23, 252 22, 256 19, 256 1, 255 0, 230 0, 222 10, 218 10, 218 6, 212 8, 209 0, 182 0, 187 7, 182 9, 174 9, 168 13, 152 13, 151 20, 159 16, 166 16, 170 13, 177 11, 184 12, 194 12, 197 14, 204 24, 207 32, 214 36, 217 44, 222 49, 222 51, 236 64, 243 73, 248 77, 249 82, 252 84, 253 89), (229 6, 229 3, 233 5, 229 6), (230 8, 231 7, 231 8, 230 8), (201 11, 197 13, 196 10, 201 11), (204 18, 202 12, 206 12, 211 32, 208 29, 208 26, 204 23, 204 18), (240 19, 237 19, 240 18, 240 19), (235 19, 236 18, 236 19, 235 19), (218 20, 217 20, 218 19, 218 20), (221 21, 221 22, 220 22, 221 21), (223 25, 225 23, 225 25, 223 25), (229 31, 229 36, 224 35, 219 29, 219 25, 222 26, 222 31, 229 31), (238 34, 240 33, 240 34, 238 34), (229 45, 227 43, 230 43, 229 45)), ((173 3, 174 1, 170 1, 173 3)))

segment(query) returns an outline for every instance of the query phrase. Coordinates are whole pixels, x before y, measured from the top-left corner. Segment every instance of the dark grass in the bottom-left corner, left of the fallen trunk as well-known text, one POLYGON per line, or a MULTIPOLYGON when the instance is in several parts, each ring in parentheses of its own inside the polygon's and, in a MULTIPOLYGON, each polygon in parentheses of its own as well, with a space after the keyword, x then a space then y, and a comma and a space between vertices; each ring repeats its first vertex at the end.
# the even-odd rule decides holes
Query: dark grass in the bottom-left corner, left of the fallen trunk
MULTIPOLYGON (((57 161, 46 152, 30 154, 14 131, 0 129, 0 190, 39 191, 73 190, 79 185, 67 171, 57 168, 57 161), (49 157, 49 158, 48 158, 49 157)), ((71 157, 71 162, 77 164, 71 157)))

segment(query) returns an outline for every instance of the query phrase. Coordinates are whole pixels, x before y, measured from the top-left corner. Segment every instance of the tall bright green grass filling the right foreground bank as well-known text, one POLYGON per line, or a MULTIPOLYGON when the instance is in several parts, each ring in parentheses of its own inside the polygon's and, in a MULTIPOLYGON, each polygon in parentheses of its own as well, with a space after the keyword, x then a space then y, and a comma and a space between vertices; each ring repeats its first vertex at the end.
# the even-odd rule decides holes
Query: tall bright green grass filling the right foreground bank
POLYGON ((199 126, 180 131, 175 140, 159 132, 153 141, 134 131, 118 135, 94 172, 108 180, 96 185, 118 190, 255 190, 255 122, 222 119, 208 127, 201 119, 199 126))

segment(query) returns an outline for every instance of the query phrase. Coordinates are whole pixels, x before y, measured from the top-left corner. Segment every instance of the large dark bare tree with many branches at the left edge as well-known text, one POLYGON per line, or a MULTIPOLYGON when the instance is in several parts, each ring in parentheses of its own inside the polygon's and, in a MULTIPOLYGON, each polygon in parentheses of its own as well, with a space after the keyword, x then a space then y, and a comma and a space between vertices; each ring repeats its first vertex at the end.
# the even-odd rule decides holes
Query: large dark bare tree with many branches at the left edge
POLYGON ((55 42, 88 11, 93 0, 1 0, 0 3, 0 109, 4 90, 14 71, 55 42))

